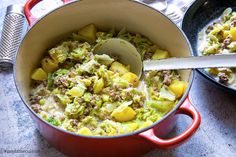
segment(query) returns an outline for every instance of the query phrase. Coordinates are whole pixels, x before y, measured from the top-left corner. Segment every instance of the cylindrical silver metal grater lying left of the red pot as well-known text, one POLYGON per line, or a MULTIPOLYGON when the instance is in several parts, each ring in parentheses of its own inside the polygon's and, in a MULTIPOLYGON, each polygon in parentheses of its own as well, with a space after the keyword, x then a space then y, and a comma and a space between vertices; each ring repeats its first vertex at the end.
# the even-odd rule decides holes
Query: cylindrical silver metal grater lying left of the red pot
POLYGON ((21 42, 25 23, 24 9, 19 5, 7 7, 0 41, 0 68, 12 68, 18 46, 21 42))

